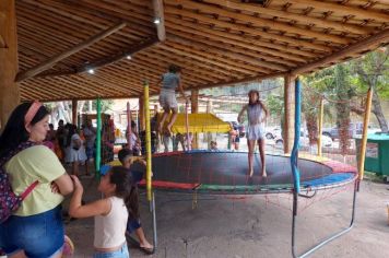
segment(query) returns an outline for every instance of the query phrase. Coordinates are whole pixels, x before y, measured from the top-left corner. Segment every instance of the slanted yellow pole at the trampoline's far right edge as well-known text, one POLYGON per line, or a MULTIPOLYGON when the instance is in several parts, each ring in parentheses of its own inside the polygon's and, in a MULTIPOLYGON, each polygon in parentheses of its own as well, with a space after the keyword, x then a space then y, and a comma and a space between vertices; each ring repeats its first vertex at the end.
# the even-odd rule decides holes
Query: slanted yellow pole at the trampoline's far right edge
POLYGON ((367 99, 366 99, 366 106, 365 106, 364 129, 363 129, 363 134, 362 134, 362 142, 361 142, 361 157, 358 161, 358 185, 359 185, 359 181, 364 178, 364 173, 365 173, 367 128, 368 128, 368 124, 370 121, 372 99, 373 99, 373 87, 370 87, 367 92, 367 99))

